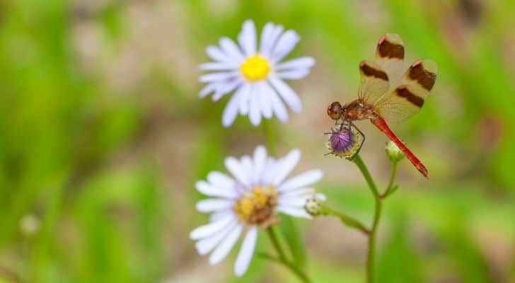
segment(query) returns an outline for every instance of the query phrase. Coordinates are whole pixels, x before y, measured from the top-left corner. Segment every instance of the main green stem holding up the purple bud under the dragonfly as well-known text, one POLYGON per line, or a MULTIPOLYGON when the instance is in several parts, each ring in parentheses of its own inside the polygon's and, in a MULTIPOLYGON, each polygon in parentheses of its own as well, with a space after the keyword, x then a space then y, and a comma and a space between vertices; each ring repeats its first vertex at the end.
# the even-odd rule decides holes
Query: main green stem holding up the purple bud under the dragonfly
POLYGON ((359 154, 357 154, 354 158, 352 158, 352 162, 356 163, 363 174, 363 177, 366 180, 366 183, 369 185, 372 194, 374 195, 375 200, 375 209, 374 209, 374 222, 372 224, 372 228, 369 233, 369 252, 366 255, 366 282, 374 283, 374 257, 376 254, 376 231, 379 224, 379 219, 381 219, 381 196, 378 193, 376 184, 372 179, 369 169, 366 168, 365 163, 361 160, 359 154))

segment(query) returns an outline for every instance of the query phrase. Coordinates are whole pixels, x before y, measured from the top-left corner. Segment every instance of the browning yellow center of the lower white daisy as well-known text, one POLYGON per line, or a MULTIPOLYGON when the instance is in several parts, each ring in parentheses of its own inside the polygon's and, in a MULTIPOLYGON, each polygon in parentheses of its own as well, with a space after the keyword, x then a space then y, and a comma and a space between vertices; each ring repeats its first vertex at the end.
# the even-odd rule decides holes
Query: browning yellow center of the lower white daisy
POLYGON ((272 185, 256 186, 245 192, 233 206, 238 219, 247 224, 268 226, 274 219, 274 209, 277 205, 277 190, 272 185))

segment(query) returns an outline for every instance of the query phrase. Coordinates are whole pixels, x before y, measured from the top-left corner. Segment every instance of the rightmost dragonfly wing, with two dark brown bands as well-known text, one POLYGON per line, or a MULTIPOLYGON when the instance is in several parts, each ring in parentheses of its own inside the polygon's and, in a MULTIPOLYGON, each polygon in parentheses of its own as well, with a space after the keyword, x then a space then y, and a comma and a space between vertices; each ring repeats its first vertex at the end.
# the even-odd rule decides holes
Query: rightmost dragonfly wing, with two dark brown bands
POLYGON ((376 100, 374 108, 388 122, 399 122, 419 112, 436 81, 436 63, 418 60, 405 71, 400 84, 376 100))

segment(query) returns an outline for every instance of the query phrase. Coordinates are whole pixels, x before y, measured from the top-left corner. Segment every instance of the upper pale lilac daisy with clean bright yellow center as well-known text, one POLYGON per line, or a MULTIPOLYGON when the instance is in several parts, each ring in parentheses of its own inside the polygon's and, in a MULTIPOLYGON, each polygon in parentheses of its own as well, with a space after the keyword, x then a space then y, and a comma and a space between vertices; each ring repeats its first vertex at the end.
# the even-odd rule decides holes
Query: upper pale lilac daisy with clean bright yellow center
POLYGON ((272 115, 286 122, 286 103, 294 112, 301 112, 299 96, 283 79, 302 79, 315 64, 312 57, 300 57, 281 62, 294 49, 300 37, 294 30, 281 25, 265 24, 258 47, 253 21, 245 21, 238 35, 239 46, 228 37, 220 39, 220 46, 208 46, 207 54, 215 62, 200 65, 204 71, 214 71, 200 76, 199 81, 207 83, 199 96, 213 93, 213 101, 234 91, 222 116, 225 127, 232 125, 236 115, 248 115, 257 126, 261 117, 272 115), (279 98, 280 97, 280 98, 279 98), (281 99, 282 98, 282 99, 281 99))

